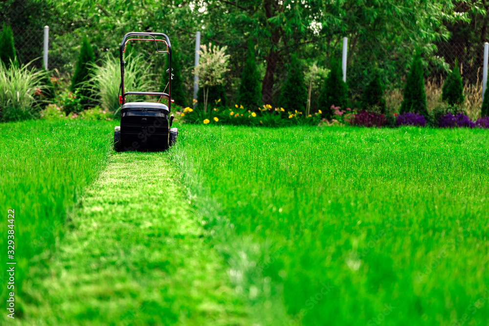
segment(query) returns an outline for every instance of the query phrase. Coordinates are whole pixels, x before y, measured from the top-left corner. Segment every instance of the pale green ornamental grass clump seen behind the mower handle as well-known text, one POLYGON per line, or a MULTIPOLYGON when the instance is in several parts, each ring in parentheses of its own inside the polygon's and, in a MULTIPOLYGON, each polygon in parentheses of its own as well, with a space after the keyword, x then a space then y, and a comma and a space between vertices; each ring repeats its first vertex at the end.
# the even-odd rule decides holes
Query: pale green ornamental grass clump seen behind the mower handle
MULTIPOLYGON (((124 89, 125 91, 147 91, 156 89, 156 75, 152 73, 152 68, 147 65, 143 55, 133 56, 128 54, 125 58, 124 66, 124 89)), ((120 110, 119 107, 119 87, 121 83, 121 71, 119 59, 111 54, 107 54, 102 65, 90 65, 90 79, 82 85, 82 88, 92 87, 93 93, 100 96, 100 104, 103 109, 112 112, 115 116, 120 110)), ((144 99, 144 96, 128 95, 127 99, 135 97, 137 100, 144 99)))

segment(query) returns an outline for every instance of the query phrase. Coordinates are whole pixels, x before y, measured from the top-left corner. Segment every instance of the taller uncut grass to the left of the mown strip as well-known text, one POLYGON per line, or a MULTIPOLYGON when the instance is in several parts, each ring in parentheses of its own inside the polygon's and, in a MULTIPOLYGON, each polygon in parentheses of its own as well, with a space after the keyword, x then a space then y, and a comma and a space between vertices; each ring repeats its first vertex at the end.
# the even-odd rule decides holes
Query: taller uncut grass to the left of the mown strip
MULTIPOLYGON (((67 208, 97 176, 111 152, 113 127, 105 122, 42 120, 0 124, 0 302, 6 302, 7 210, 15 210, 16 317, 30 260, 49 257, 62 236, 67 208)), ((31 262, 32 263, 32 262, 31 262)), ((3 306, 3 305, 2 305, 3 306)), ((5 310, 6 311, 6 310, 5 310)))

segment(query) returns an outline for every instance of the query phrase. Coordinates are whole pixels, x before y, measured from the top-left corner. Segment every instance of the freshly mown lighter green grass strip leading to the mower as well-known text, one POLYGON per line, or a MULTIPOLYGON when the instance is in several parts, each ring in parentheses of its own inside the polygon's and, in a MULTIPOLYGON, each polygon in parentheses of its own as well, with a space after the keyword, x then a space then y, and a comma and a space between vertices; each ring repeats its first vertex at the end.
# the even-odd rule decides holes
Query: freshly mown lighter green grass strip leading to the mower
POLYGON ((20 325, 247 325, 165 153, 117 153, 84 192, 20 325))

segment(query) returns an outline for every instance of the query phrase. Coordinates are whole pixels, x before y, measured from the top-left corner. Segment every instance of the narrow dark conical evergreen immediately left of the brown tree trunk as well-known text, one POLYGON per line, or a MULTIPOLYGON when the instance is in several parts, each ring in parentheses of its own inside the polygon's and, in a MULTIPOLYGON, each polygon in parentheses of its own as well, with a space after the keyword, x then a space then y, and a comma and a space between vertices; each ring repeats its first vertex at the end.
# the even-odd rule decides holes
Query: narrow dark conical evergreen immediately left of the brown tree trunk
POLYGON ((248 43, 248 55, 244 63, 243 74, 241 75, 241 85, 238 93, 239 105, 244 108, 256 111, 260 106, 260 74, 256 65, 254 46, 251 40, 248 43))

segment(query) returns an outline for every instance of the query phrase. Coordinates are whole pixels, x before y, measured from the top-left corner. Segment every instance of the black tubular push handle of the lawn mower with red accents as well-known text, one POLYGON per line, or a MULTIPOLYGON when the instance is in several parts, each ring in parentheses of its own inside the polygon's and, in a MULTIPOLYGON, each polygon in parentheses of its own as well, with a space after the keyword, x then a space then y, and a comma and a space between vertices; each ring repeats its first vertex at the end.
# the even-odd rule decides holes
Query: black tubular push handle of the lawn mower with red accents
POLYGON ((166 93, 160 93, 160 92, 124 92, 124 59, 123 55, 124 52, 126 51, 126 43, 129 42, 128 38, 131 35, 137 35, 137 36, 149 36, 151 39, 134 39, 134 40, 148 40, 148 41, 154 41, 155 46, 156 46, 156 51, 158 53, 168 53, 168 64, 169 64, 169 71, 172 71, 172 44, 170 43, 170 39, 168 36, 166 36, 163 33, 146 33, 146 32, 129 32, 126 35, 124 35, 124 38, 122 39, 122 42, 120 43, 120 48, 119 48, 119 55, 120 55, 120 65, 121 65, 121 89, 122 89, 122 104, 126 103, 125 96, 126 95, 159 95, 159 96, 165 96, 168 97, 168 110, 171 111, 170 105, 171 105, 171 94, 172 94, 172 79, 171 76, 168 81, 168 94, 166 93), (156 40, 155 36, 163 37, 165 40, 156 40), (160 51, 158 50, 158 46, 156 45, 156 41, 161 41, 166 43, 167 50, 166 51, 160 51))

